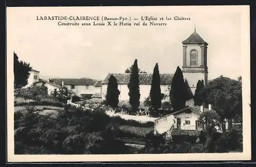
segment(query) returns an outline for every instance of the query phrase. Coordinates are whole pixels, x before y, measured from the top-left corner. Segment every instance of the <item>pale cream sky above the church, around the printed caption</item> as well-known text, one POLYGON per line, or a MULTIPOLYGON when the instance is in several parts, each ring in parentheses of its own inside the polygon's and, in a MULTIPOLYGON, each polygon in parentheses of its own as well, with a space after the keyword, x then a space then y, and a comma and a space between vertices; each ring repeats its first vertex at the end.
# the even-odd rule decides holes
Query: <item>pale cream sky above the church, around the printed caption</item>
MULTIPOLYGON (((140 69, 175 73, 182 66, 181 41, 194 32, 208 43, 208 78, 241 75, 241 15, 235 9, 196 7, 9 8, 8 50, 29 62, 41 75, 104 79, 124 73, 138 59, 140 69), (166 22, 165 27, 57 26, 55 20, 36 16, 190 17, 166 22)), ((72 22, 72 21, 70 21, 72 22)), ((76 21, 83 22, 83 21, 76 21)), ((100 21, 101 22, 101 21, 100 21)), ((133 21, 134 22, 134 21, 133 21)), ((142 21, 140 21, 142 22, 142 21)), ((8 56, 13 56, 10 54, 8 56)))

